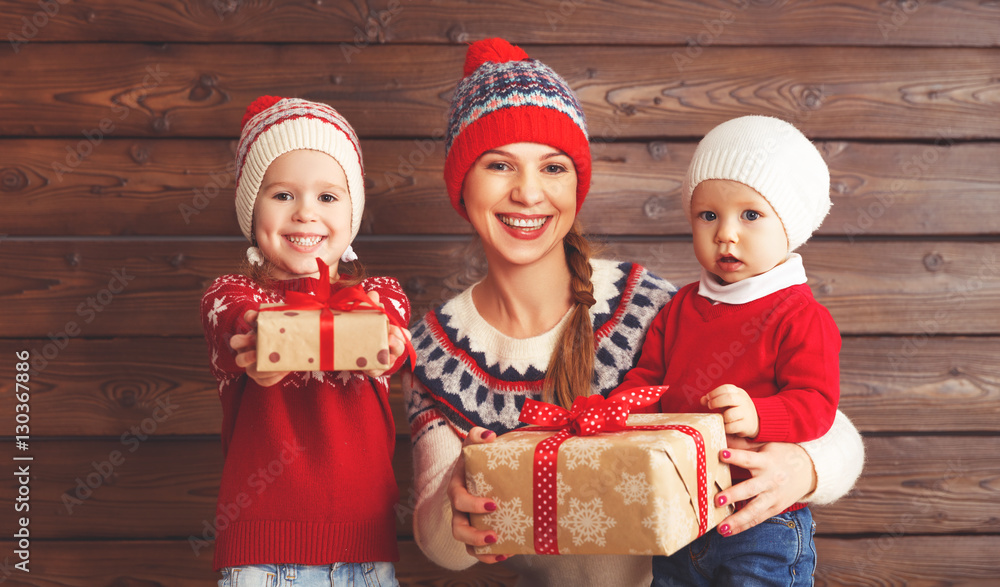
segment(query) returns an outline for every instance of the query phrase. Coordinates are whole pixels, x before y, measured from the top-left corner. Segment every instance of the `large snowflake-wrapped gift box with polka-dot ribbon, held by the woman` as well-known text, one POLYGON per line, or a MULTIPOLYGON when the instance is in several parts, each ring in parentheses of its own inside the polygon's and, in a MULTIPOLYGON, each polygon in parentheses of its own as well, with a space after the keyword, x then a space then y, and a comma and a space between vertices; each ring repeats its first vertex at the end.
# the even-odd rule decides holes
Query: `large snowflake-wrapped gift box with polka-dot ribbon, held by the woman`
POLYGON ((572 412, 528 400, 522 421, 557 422, 465 447, 469 491, 497 505, 472 516, 497 535, 478 553, 669 555, 730 513, 713 505, 731 484, 722 416, 628 415, 623 397, 578 398, 572 412))

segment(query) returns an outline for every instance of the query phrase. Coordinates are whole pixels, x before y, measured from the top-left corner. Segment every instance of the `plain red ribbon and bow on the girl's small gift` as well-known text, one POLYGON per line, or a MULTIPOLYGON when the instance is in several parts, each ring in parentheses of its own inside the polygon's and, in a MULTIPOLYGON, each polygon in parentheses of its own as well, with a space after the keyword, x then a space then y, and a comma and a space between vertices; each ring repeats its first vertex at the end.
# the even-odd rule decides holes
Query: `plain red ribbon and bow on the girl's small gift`
MULTIPOLYGON (((368 292, 360 285, 342 287, 333 291, 330 283, 330 267, 323 262, 323 259, 316 257, 319 265, 319 286, 313 294, 300 291, 285 292, 285 303, 281 306, 262 308, 261 312, 288 312, 292 310, 319 310, 319 368, 321 371, 333 370, 333 313, 354 312, 357 310, 373 310, 383 314, 389 322, 406 328, 395 316, 389 315, 385 308, 379 306, 368 297, 368 292)), ((406 343, 406 356, 410 359, 410 369, 413 369, 417 362, 416 353, 410 341, 403 337, 406 343)))

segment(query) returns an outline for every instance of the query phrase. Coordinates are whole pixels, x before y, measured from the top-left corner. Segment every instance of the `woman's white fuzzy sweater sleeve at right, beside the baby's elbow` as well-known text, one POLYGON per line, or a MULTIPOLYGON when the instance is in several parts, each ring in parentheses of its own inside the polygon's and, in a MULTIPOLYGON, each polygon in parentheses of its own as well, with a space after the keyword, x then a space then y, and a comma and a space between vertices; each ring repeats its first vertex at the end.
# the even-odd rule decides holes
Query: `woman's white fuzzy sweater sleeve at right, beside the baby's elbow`
POLYGON ((800 446, 812 459, 816 491, 803 501, 816 505, 833 503, 854 487, 865 464, 865 445, 854 424, 837 410, 829 432, 800 446))

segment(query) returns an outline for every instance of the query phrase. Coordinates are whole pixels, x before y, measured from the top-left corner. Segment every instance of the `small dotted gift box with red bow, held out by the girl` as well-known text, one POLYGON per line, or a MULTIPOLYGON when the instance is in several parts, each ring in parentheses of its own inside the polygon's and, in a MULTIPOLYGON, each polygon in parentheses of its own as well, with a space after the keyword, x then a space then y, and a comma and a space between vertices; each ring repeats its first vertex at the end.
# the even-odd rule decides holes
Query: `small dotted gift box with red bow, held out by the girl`
POLYGON ((257 316, 258 371, 384 370, 389 365, 389 319, 360 286, 334 290, 319 265, 319 291, 290 291, 284 304, 261 304, 257 316))

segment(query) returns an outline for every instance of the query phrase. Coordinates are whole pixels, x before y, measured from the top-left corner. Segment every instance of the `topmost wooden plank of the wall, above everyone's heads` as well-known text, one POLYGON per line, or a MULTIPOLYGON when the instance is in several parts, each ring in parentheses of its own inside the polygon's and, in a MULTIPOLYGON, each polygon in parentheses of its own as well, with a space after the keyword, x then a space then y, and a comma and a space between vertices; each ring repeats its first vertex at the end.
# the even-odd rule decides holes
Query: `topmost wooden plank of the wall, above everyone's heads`
POLYGON ((459 0, 346 2, 157 2, 86 5, 6 3, 0 30, 15 51, 52 41, 268 42, 345 44, 462 43, 500 36, 521 43, 648 45, 940 45, 995 46, 1000 36, 987 4, 872 5, 862 0, 805 4, 640 0, 526 2, 474 7, 459 0), (51 16, 43 13, 48 6, 51 16), (34 25, 34 26, 32 26, 34 25), (23 44, 22 44, 23 43, 23 44))

